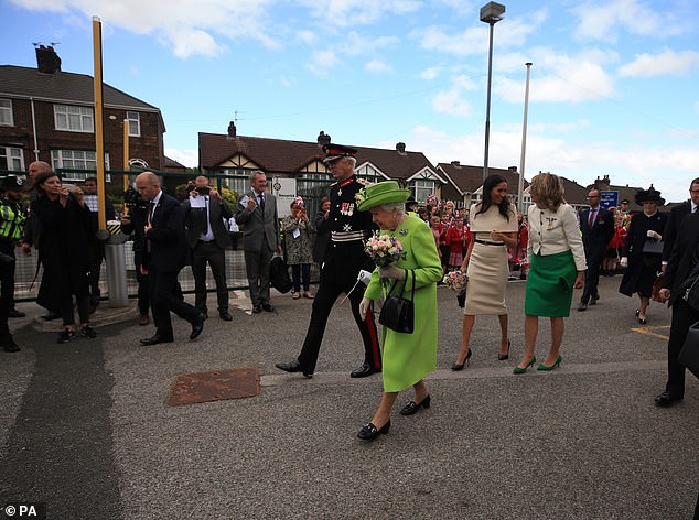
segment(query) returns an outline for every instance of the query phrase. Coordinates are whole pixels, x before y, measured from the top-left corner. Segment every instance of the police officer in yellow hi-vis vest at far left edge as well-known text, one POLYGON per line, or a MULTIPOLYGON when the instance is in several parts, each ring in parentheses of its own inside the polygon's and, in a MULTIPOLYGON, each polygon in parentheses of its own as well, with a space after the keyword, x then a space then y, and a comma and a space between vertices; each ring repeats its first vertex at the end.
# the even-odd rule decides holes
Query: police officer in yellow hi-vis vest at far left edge
POLYGON ((20 347, 12 339, 8 317, 14 304, 14 247, 22 239, 26 213, 20 203, 24 180, 8 175, 0 198, 0 346, 8 353, 20 347))

